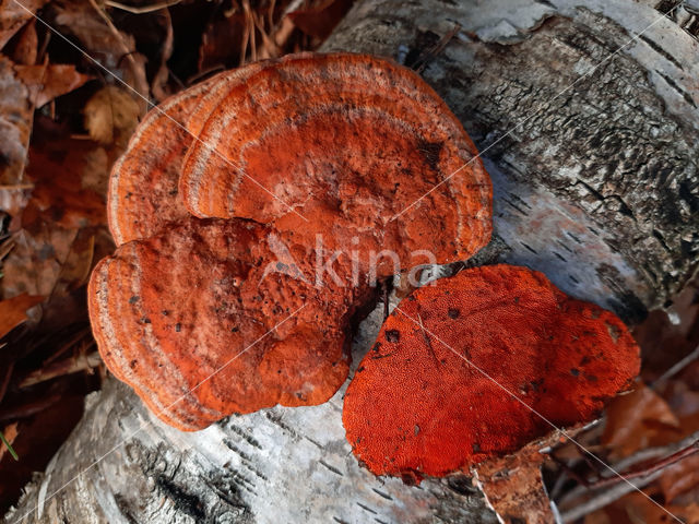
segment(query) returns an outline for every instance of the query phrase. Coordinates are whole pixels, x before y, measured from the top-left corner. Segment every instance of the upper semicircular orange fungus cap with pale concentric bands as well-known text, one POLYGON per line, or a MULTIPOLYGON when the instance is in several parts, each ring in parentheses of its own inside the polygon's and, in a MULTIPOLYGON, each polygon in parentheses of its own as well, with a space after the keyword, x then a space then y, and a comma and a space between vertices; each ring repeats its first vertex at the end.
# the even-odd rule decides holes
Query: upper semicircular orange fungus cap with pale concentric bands
POLYGON ((182 168, 192 214, 274 223, 305 246, 323 234, 328 249, 356 250, 365 265, 371 251, 391 250, 407 269, 428 262, 418 250, 446 263, 487 243, 489 177, 459 120, 408 69, 301 53, 221 87, 200 105, 208 118, 182 168))

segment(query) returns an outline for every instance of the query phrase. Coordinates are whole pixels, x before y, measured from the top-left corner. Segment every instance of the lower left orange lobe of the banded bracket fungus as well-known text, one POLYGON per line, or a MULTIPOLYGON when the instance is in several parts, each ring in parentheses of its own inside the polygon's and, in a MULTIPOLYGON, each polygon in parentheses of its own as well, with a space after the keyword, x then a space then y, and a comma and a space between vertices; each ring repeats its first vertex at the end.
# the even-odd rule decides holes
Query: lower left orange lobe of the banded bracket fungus
MULTIPOLYGON (((348 370, 357 289, 269 272, 273 230, 191 218, 99 262, 88 303, 109 370, 166 422, 327 401, 348 370)), ((366 290, 365 290, 366 291, 366 290)))

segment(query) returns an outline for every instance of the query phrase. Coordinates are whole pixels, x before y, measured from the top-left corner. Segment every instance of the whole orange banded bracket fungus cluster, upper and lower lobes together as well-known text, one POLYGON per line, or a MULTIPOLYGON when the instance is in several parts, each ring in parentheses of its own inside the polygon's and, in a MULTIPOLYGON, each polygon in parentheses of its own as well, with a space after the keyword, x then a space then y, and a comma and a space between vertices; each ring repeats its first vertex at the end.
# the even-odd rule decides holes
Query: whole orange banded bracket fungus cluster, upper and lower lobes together
MULTIPOLYGON (((417 74, 368 56, 258 62, 169 98, 110 178, 119 247, 88 288, 104 361, 183 430, 324 402, 347 377, 351 320, 374 294, 345 258, 333 265, 344 285, 309 281, 316 234, 359 253, 364 276, 371 250, 396 252, 403 271, 426 262, 413 250, 467 258, 491 229, 476 154, 417 74), (424 193, 419 212, 402 213, 424 193), (280 242, 296 273, 268 274, 284 265, 280 242)), ((393 272, 380 263, 376 276, 393 272)))

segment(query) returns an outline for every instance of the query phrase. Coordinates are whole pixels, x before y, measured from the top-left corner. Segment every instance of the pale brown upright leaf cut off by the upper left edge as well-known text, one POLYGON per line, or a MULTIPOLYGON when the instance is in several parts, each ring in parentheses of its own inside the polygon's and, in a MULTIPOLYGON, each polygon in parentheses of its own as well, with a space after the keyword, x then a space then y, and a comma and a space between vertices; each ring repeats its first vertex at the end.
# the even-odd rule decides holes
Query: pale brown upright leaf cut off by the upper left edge
POLYGON ((32 131, 28 90, 10 59, 0 56, 0 186, 22 181, 26 147, 32 131))

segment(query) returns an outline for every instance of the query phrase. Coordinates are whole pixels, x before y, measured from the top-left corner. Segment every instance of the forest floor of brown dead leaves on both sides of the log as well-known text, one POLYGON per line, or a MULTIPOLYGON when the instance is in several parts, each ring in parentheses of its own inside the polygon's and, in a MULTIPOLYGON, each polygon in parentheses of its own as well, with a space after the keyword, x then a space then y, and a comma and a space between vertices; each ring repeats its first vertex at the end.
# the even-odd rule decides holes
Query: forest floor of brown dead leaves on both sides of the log
MULTIPOLYGON (((125 0, 127 1, 127 0, 125 0)), ((0 514, 43 471, 106 377, 87 319, 92 267, 114 250, 111 165, 169 95, 224 69, 313 50, 352 0, 0 2, 0 514)), ((578 440, 686 522, 699 522, 699 282, 635 329, 643 367, 578 440), (676 443, 684 442, 679 449, 676 443), (651 475, 652 474, 652 475, 651 475)), ((662 522, 577 446, 545 466, 585 524, 662 522)))

